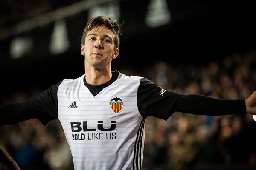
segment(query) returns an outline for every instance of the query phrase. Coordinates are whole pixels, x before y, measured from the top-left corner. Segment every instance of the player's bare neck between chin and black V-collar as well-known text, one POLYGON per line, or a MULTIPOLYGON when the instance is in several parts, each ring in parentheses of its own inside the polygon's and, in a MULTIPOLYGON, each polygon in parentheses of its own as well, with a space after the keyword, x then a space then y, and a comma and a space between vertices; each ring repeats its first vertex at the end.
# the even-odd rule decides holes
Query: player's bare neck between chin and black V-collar
POLYGON ((85 80, 90 85, 102 85, 108 82, 112 77, 111 68, 98 69, 85 66, 85 80))

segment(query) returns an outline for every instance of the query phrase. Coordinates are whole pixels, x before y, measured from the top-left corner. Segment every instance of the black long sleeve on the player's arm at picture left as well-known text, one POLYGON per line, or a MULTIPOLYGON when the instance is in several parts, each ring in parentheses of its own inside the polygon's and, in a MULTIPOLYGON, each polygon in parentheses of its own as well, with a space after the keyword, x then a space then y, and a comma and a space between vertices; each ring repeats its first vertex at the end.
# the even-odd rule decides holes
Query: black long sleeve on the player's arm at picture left
POLYGON ((38 119, 46 125, 49 121, 58 119, 57 91, 61 82, 24 102, 0 106, 0 125, 14 124, 29 119, 38 119))

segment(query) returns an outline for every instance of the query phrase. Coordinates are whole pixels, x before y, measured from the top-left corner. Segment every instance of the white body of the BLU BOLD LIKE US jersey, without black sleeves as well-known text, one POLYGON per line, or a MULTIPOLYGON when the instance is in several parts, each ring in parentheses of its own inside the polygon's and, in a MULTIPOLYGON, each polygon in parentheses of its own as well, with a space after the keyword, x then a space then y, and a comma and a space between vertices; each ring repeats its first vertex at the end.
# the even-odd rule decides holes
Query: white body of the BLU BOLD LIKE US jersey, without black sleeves
POLYGON ((119 74, 93 96, 84 75, 58 87, 58 119, 76 170, 127 170, 141 166, 145 119, 137 107, 141 77, 119 74))

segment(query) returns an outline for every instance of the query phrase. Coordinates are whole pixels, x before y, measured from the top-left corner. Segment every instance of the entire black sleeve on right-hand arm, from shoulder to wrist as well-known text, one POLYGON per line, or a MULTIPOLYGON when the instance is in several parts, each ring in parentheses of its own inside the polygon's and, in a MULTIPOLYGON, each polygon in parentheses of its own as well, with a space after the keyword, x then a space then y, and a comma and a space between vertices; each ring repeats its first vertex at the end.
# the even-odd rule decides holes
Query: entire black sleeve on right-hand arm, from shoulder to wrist
POLYGON ((137 105, 143 117, 167 120, 175 111, 196 115, 229 115, 246 113, 245 100, 222 100, 199 94, 181 94, 160 88, 142 78, 137 93, 137 105))

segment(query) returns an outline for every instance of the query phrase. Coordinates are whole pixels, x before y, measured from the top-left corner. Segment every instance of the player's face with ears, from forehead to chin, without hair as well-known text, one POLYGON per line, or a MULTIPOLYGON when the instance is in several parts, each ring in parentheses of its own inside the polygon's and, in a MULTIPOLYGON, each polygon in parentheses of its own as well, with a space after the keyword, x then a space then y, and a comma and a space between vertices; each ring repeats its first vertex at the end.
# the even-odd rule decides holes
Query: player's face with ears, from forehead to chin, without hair
POLYGON ((81 45, 86 65, 104 68, 111 64, 111 60, 119 54, 119 49, 114 49, 113 36, 112 31, 103 26, 87 33, 84 45, 81 45))

